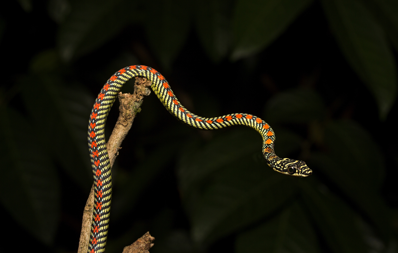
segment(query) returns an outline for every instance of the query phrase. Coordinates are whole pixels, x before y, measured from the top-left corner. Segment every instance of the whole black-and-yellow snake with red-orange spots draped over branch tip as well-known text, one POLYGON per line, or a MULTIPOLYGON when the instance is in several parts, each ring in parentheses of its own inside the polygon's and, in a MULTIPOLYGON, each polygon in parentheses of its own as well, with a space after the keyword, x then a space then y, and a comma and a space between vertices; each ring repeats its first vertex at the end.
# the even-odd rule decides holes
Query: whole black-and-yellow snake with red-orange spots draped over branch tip
POLYGON ((153 68, 134 65, 113 74, 102 87, 90 114, 88 125, 88 147, 92 165, 95 200, 91 222, 89 253, 105 251, 109 226, 109 211, 112 196, 112 175, 108 151, 105 144, 105 121, 113 102, 123 84, 133 77, 145 77, 151 82, 151 88, 166 109, 181 122, 198 129, 212 130, 233 125, 244 125, 258 131, 263 138, 262 153, 273 170, 296 177, 312 174, 305 162, 275 155, 275 133, 272 128, 251 114, 235 113, 216 118, 197 116, 180 104, 164 76, 153 68))

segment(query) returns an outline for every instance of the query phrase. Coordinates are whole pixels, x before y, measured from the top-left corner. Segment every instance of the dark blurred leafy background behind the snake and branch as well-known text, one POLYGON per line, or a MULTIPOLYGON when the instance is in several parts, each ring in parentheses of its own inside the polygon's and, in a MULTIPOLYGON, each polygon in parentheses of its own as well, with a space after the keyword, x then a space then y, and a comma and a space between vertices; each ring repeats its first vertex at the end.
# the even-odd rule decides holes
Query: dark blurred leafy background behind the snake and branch
POLYGON ((4 244, 76 251, 90 109, 115 71, 144 64, 198 115, 261 116, 276 153, 313 175, 268 168, 250 128, 189 128, 147 97, 113 167, 107 252, 148 230, 154 253, 398 251, 397 1, 18 0, 0 10, 4 244))

